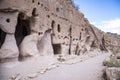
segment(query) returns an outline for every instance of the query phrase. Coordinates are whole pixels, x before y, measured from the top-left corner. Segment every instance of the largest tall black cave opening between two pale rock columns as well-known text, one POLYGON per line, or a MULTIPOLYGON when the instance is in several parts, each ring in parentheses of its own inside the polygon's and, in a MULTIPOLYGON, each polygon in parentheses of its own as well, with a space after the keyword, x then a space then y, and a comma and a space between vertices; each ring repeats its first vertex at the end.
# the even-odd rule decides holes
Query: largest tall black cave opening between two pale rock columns
POLYGON ((15 31, 15 38, 17 45, 19 46, 25 36, 30 34, 30 25, 29 19, 23 19, 23 14, 20 13, 18 15, 16 31, 15 31))

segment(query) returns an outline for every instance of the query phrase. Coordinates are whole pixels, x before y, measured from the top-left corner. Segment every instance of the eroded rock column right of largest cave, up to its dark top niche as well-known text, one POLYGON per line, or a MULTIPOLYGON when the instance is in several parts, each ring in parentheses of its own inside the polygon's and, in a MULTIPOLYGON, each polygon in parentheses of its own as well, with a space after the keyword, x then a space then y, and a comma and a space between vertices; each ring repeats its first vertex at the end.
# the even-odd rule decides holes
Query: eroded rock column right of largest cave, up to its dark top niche
POLYGON ((39 25, 40 18, 37 9, 34 8, 32 17, 30 17, 30 35, 26 36, 20 44, 20 57, 22 59, 28 57, 36 57, 39 55, 38 40, 39 40, 39 25))

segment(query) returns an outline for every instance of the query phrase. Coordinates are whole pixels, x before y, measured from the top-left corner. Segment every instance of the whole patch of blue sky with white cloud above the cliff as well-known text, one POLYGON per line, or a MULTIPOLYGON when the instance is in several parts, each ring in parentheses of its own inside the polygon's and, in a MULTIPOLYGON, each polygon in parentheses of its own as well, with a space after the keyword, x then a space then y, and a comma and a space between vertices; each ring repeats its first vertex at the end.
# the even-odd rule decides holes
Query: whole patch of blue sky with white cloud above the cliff
POLYGON ((120 34, 120 0, 74 0, 91 24, 120 34))

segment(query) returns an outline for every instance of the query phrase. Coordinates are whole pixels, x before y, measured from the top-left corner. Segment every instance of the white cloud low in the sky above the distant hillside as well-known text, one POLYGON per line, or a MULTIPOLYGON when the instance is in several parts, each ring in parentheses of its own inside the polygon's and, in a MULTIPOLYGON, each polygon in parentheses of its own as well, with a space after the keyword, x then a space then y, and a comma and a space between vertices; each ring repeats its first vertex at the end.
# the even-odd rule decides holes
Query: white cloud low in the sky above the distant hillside
POLYGON ((120 19, 101 21, 100 23, 92 22, 93 25, 105 32, 112 32, 120 34, 120 19))

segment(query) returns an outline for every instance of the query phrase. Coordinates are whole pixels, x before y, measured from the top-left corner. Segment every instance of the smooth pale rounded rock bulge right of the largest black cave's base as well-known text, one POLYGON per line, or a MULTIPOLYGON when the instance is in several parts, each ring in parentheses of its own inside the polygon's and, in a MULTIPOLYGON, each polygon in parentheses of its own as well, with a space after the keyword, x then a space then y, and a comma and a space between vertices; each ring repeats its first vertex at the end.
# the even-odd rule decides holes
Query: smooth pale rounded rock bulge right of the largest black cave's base
POLYGON ((26 36, 20 44, 20 58, 35 57, 39 54, 38 48, 38 34, 32 33, 26 36))

